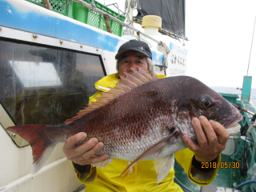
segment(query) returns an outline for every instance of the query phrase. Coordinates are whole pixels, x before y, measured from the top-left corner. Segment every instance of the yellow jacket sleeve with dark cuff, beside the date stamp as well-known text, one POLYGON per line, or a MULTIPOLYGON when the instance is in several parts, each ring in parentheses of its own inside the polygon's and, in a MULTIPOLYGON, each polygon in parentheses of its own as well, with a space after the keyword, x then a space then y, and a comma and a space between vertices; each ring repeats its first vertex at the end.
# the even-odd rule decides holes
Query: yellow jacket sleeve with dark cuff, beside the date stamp
MULTIPOLYGON (((194 157, 194 152, 192 150, 190 150, 189 148, 186 148, 185 150, 180 150, 175 153, 175 158, 176 158, 177 162, 186 171, 186 174, 187 174, 188 178, 190 179, 190 182, 193 182, 194 184, 196 184, 198 186, 210 185, 210 183, 214 181, 214 178, 216 177, 216 175, 218 173, 218 168, 215 168, 214 170, 211 170, 210 172, 202 172, 200 170, 197 170, 192 165, 193 157, 194 157)), ((220 161, 221 161, 221 155, 218 156, 216 165, 218 165, 218 163, 220 161)))

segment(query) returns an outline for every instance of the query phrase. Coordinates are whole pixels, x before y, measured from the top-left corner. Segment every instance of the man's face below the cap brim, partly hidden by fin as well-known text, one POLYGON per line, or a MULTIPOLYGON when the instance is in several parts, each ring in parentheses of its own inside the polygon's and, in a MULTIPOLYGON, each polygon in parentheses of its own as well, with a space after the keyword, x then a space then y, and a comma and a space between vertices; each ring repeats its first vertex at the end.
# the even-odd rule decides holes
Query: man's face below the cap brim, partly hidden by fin
MULTIPOLYGON (((126 73, 130 73, 130 68, 138 70, 138 66, 142 70, 148 71, 148 64, 146 62, 146 56, 135 55, 130 51, 126 51, 120 56, 119 60, 119 73, 123 77, 126 77, 126 73)), ((150 72, 151 74, 151 72, 150 72)))

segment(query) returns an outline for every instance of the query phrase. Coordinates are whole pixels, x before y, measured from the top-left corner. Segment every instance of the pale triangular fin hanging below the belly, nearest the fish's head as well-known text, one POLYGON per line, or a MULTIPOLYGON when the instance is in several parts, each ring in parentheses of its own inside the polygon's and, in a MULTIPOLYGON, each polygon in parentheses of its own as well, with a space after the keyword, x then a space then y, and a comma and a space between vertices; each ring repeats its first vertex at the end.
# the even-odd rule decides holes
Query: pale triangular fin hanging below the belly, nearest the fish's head
POLYGON ((173 165, 174 165, 174 154, 171 154, 164 158, 158 158, 154 160, 154 169, 156 174, 158 174, 158 183, 161 182, 162 179, 166 178, 167 174, 170 172, 170 168, 173 165))

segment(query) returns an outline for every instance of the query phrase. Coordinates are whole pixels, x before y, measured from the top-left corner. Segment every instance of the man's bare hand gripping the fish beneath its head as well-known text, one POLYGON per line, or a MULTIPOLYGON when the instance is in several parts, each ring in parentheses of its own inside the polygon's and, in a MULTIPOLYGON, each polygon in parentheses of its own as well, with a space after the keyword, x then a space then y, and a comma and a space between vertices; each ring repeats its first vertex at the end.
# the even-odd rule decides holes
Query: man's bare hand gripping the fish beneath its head
POLYGON ((183 136, 183 141, 190 150, 194 151, 198 162, 210 162, 226 148, 226 142, 230 134, 225 127, 218 122, 200 116, 193 118, 192 125, 198 138, 198 145, 194 144, 189 136, 183 136))

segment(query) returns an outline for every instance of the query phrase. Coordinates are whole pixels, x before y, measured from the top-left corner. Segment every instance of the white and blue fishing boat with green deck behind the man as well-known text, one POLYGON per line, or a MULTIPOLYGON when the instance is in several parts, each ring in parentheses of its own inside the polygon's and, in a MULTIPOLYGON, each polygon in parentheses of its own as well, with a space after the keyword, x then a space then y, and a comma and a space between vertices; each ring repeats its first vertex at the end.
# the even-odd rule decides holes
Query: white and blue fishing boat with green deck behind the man
MULTIPOLYGON (((114 56, 124 42, 130 39, 147 42, 158 74, 186 75, 188 50, 183 41, 188 39, 185 37, 185 25, 181 22, 184 12, 180 12, 185 10, 184 1, 176 5, 181 8, 176 14, 178 18, 174 19, 178 27, 165 30, 159 30, 161 26, 158 24, 154 27, 143 24, 140 15, 133 18, 130 11, 135 7, 131 2, 128 1, 127 11, 116 12, 110 6, 117 4, 104 6, 94 0, 0 0, 1 192, 84 191, 86 186, 77 181, 70 162, 62 152, 63 144, 54 148, 42 170, 30 174, 33 162, 31 147, 26 140, 6 128, 20 124, 58 125, 74 117, 97 91, 94 82, 116 73, 114 56), (134 27, 133 22, 142 24, 145 30, 134 27)), ((147 12, 146 8, 140 10, 144 10, 141 14, 147 12)), ((255 107, 248 99, 248 79, 244 83, 242 97, 224 93, 222 96, 255 114, 255 107)), ((246 182, 248 178, 240 177, 242 170, 238 165, 241 167, 242 158, 246 157, 242 173, 246 175, 255 163, 256 133, 252 115, 242 110, 241 113, 244 120, 240 124, 250 130, 246 132, 250 142, 242 140, 241 135, 234 136, 238 139, 230 138, 231 145, 236 140, 237 147, 235 151, 232 148, 231 153, 222 154, 222 162, 238 163, 234 163, 237 166, 233 169, 231 166, 230 170, 218 170, 218 177, 213 183, 216 187, 234 188, 246 182), (223 177, 229 181, 226 179, 223 183, 223 177)), ((183 177, 178 163, 174 168, 182 188, 203 190, 183 177)), ((252 190, 252 186, 245 187, 244 191, 252 190)))

